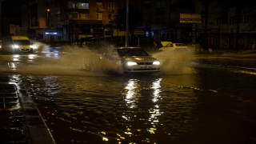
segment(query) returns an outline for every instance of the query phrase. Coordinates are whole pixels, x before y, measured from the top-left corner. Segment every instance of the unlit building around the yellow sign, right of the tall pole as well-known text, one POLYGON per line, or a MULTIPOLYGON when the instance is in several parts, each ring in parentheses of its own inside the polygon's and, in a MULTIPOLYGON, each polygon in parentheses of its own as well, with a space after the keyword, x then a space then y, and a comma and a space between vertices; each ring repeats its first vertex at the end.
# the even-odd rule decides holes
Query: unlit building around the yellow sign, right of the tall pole
POLYGON ((180 14, 194 13, 194 1, 130 0, 129 4, 141 11, 143 22, 138 29, 144 30, 146 38, 150 38, 160 45, 162 41, 173 41, 177 38, 191 39, 192 24, 180 23, 180 14))

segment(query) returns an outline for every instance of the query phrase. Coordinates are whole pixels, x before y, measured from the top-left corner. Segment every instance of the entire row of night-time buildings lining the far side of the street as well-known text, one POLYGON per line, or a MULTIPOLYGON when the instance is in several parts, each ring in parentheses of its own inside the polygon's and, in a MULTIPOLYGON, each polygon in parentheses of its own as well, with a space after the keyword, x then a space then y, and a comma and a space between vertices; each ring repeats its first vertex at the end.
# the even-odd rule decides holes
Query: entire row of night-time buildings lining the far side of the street
MULTIPOLYGON (((126 0, 34 0, 22 6, 22 27, 28 26, 30 37, 49 39, 47 31, 54 32, 54 39, 74 42, 85 37, 125 36, 126 31, 114 28, 115 14, 126 0)), ((211 49, 234 49, 238 46, 255 48, 256 10, 242 11, 236 23, 235 6, 225 6, 220 0, 210 2, 208 22, 206 7, 198 0, 129 0, 129 5, 142 13, 142 26, 130 37, 149 38, 152 42, 173 41, 193 36, 211 49), (200 14, 200 22, 181 22, 180 14, 200 14), (205 26, 207 27, 205 28, 205 26), (195 30, 194 30, 195 29, 195 30), (238 30, 238 32, 237 32, 238 30), (192 33, 196 31, 195 35, 192 33)), ((130 16, 132 18, 132 16, 130 16)), ((51 36, 52 37, 52 36, 51 36)))

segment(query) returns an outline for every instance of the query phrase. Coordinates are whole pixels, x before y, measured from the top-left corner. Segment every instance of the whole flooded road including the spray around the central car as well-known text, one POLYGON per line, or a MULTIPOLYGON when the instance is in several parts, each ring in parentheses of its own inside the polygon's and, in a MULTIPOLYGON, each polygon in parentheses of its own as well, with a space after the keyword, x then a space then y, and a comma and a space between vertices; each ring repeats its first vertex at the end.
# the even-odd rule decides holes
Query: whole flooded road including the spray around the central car
POLYGON ((191 52, 154 57, 159 74, 122 74, 81 49, 1 56, 1 70, 26 85, 59 144, 256 142, 256 74, 191 52))

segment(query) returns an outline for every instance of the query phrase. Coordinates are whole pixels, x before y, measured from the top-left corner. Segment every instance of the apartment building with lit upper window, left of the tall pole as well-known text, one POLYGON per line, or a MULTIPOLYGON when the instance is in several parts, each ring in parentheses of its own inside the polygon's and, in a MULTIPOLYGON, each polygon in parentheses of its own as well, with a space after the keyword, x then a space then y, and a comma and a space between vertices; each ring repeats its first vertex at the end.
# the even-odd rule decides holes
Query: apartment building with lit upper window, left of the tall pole
POLYGON ((74 42, 89 36, 117 35, 117 30, 114 30, 113 26, 118 7, 119 0, 62 0, 59 3, 58 23, 63 27, 63 37, 74 42))

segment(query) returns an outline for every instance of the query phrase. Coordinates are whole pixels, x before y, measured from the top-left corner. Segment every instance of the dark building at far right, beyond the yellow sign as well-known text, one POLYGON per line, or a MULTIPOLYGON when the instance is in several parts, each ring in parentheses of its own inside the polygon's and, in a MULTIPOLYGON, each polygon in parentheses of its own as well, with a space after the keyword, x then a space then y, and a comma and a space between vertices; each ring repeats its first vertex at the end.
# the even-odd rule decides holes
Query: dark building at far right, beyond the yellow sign
MULTIPOLYGON (((256 10, 242 10, 237 24, 235 6, 226 6, 220 0, 210 2, 207 22, 206 44, 210 49, 234 49, 238 38, 239 49, 255 49, 256 10)), ((196 1, 196 12, 202 14, 202 23, 198 24, 199 36, 204 34, 205 6, 196 1)))

